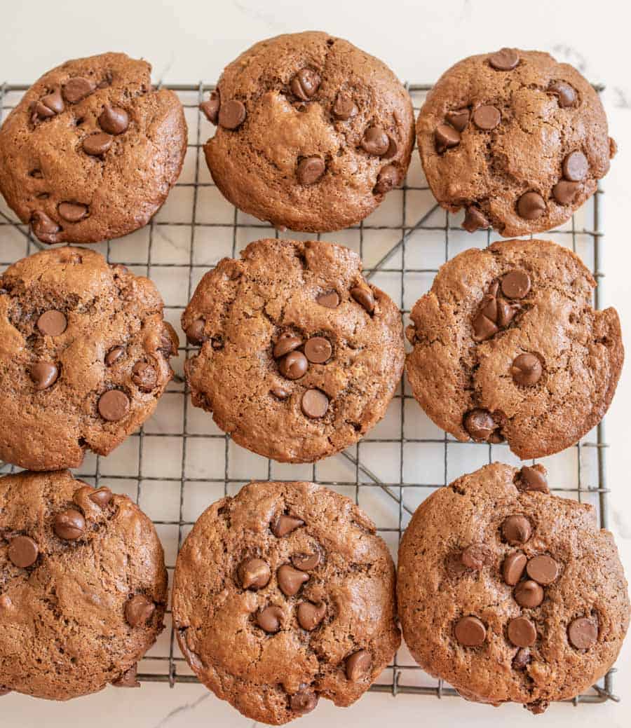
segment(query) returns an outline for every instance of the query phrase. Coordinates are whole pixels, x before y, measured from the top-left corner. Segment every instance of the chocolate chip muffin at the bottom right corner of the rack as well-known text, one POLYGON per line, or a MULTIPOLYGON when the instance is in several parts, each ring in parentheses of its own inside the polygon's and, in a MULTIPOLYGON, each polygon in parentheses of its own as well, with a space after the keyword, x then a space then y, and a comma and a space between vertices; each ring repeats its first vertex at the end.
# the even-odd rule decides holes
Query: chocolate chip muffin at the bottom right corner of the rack
POLYGON ((541 465, 487 465, 431 494, 401 541, 397 595, 423 669, 533 713, 600 679, 629 625, 614 538, 591 506, 550 495, 541 465))

